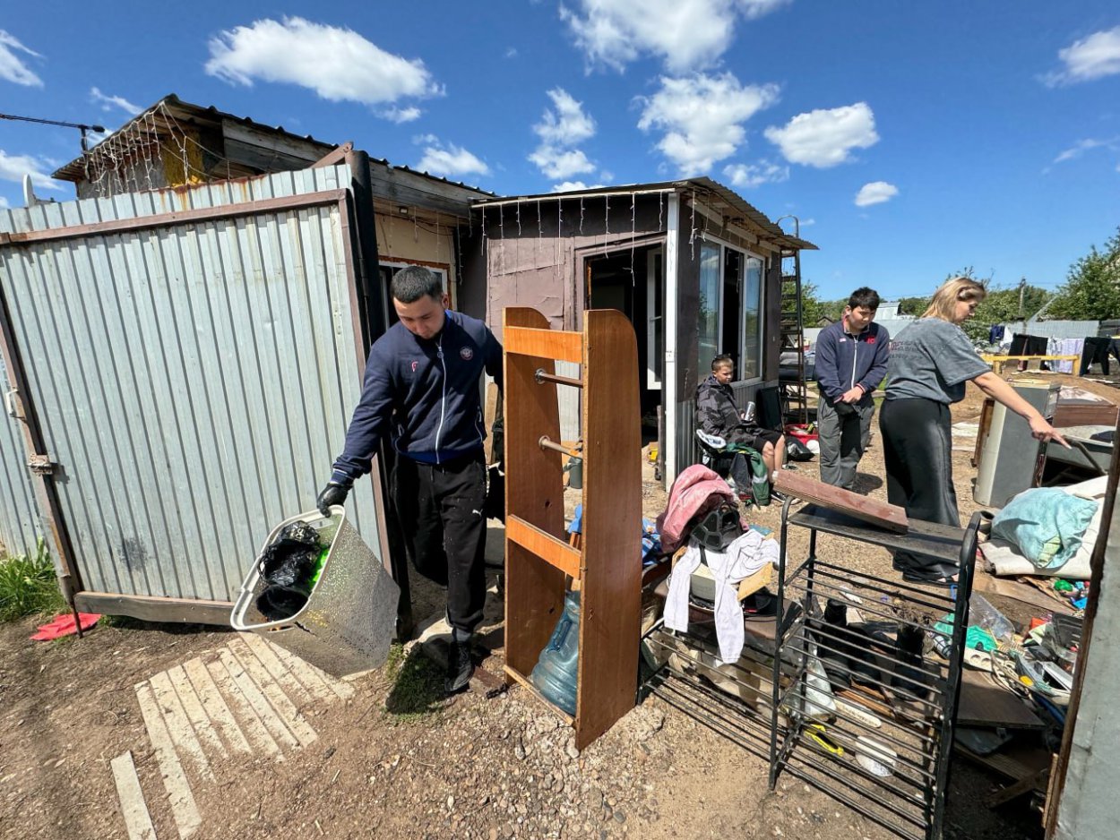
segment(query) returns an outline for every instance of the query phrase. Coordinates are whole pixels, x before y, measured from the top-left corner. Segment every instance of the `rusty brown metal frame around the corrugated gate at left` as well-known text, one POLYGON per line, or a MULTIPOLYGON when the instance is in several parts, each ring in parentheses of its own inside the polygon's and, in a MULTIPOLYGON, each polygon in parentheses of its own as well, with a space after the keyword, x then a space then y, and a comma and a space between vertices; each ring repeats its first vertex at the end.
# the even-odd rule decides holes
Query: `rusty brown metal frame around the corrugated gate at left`
MULTIPOLYGON (((242 216, 258 215, 262 213, 281 213, 284 211, 304 209, 307 207, 319 207, 325 205, 337 205, 339 215, 339 230, 343 236, 343 259, 346 268, 346 279, 348 281, 352 319, 355 335, 355 353, 358 361, 360 372, 365 371, 365 346, 363 343, 361 317, 357 311, 357 274, 355 271, 355 258, 353 254, 354 237, 356 228, 352 231, 351 213, 352 206, 351 190, 346 188, 327 189, 316 193, 306 193, 295 196, 282 196, 256 202, 244 202, 239 204, 220 205, 216 207, 200 207, 197 209, 180 211, 174 213, 161 213, 151 216, 140 216, 137 218, 113 220, 84 225, 69 225, 67 227, 55 227, 44 231, 28 231, 22 233, 0 233, 0 246, 21 245, 31 242, 52 242, 66 239, 75 239, 88 235, 102 235, 106 233, 121 233, 132 231, 151 230, 153 227, 167 227, 176 224, 193 224, 198 222, 215 221, 222 218, 237 218, 242 216)), ((11 328, 11 316, 8 308, 8 299, 4 288, 0 284, 0 355, 8 367, 9 382, 16 389, 16 398, 19 400, 19 419, 22 420, 24 440, 28 451, 28 464, 49 463, 49 454, 46 452, 46 441, 43 436, 43 427, 39 423, 35 405, 30 401, 30 390, 28 388, 27 374, 24 370, 22 358, 16 344, 16 337, 11 328)), ((375 465, 377 461, 375 460, 375 465)), ((380 465, 377 465, 380 470, 380 465)), ((228 624, 230 610, 233 608, 232 601, 217 601, 197 598, 170 598, 162 596, 140 596, 122 595, 115 592, 95 592, 86 590, 82 582, 81 569, 76 562, 73 542, 66 529, 65 516, 54 484, 54 476, 49 470, 31 470, 36 488, 36 497, 39 503, 40 513, 45 520, 49 536, 54 543, 55 557, 62 569, 59 587, 66 598, 72 612, 77 618, 77 609, 81 607, 87 610, 116 610, 120 615, 130 615, 146 620, 174 620, 194 622, 199 624, 228 624)), ((374 482, 374 502, 377 520, 377 531, 381 542, 382 562, 385 568, 390 568, 389 543, 385 531, 385 498, 380 482, 374 482)), ((81 627, 78 629, 81 636, 81 627)))

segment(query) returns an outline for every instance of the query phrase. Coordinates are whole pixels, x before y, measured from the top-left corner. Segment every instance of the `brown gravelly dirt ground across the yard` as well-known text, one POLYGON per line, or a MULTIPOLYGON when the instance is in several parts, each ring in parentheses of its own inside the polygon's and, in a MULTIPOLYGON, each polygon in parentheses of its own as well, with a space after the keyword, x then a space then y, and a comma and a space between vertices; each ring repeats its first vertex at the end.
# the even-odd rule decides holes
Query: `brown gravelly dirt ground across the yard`
MULTIPOLYGON (((1095 385, 1112 399, 1113 385, 1095 385)), ((971 390, 971 389, 970 389, 971 390)), ((974 421, 971 394, 954 411, 974 421)), ((955 442, 955 441, 954 441, 955 442)), ((962 516, 976 505, 971 441, 954 446, 962 516)), ((815 475, 815 463, 800 466, 815 475)), ((648 465, 645 507, 664 493, 648 465)), ((885 498, 876 439, 861 464, 861 489, 885 498)), ((781 508, 750 519, 776 528, 781 508)), ((791 532, 791 557, 808 539, 791 532)), ((885 573, 885 551, 822 535, 822 557, 853 571, 885 573)), ((439 592, 414 581, 424 607, 439 592)), ((997 606, 1004 606, 997 604, 997 606)), ((1007 607, 1010 612, 1010 607, 1007 607)), ((423 613, 418 608, 418 618, 423 613)), ((1012 616, 1021 620, 1023 616, 1012 616)), ((86 638, 28 641, 37 620, 0 626, 0 838, 125 838, 110 760, 132 750, 159 838, 177 836, 160 796, 160 771, 147 739, 133 684, 228 642, 213 627, 122 622, 86 638)), ((501 672, 501 640, 484 666, 501 672)), ((571 732, 523 689, 487 699, 472 691, 400 710, 401 675, 438 682, 412 650, 396 679, 385 669, 354 681, 345 702, 293 702, 319 740, 276 763, 231 759, 215 780, 194 784, 203 814, 196 838, 726 838, 790 837, 880 840, 884 829, 841 803, 783 776, 767 790, 766 763, 651 697, 582 755, 571 732)), ((435 696, 432 696, 435 697, 435 696)), ((1020 799, 982 804, 1001 781, 954 759, 945 837, 953 840, 1040 838, 1037 812, 1020 799)))

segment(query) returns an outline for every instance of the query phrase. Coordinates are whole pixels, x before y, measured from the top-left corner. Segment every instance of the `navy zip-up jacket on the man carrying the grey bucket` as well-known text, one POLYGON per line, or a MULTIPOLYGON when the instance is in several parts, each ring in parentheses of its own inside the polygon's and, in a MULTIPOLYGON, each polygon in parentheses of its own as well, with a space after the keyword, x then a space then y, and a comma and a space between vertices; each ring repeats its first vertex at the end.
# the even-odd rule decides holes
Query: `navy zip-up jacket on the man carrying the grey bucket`
POLYGON ((426 464, 482 451, 484 370, 501 388, 502 345, 483 321, 447 310, 444 328, 430 339, 394 324, 370 348, 362 399, 332 480, 368 473, 386 432, 396 451, 426 464))

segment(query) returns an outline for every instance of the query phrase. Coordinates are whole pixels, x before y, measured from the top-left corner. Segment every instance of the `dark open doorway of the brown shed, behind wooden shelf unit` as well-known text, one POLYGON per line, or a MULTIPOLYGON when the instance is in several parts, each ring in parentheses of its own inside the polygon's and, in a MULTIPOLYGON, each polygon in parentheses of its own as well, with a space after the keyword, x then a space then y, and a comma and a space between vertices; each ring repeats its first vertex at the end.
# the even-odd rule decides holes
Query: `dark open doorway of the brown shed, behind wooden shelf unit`
POLYGON ((634 325, 643 444, 657 439, 664 373, 664 249, 623 249, 584 261, 588 309, 617 309, 634 325))

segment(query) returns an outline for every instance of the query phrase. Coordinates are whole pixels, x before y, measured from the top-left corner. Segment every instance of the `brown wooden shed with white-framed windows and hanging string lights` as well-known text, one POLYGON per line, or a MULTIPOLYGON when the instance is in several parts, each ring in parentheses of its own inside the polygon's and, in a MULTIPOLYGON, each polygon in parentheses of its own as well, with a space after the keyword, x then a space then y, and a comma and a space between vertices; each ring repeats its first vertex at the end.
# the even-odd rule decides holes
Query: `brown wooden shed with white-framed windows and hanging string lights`
MULTIPOLYGON (((507 306, 534 307, 560 329, 604 308, 634 325, 643 437, 657 439, 660 426, 666 483, 697 460, 696 390, 713 356, 735 358, 741 404, 777 384, 783 273, 815 245, 728 187, 690 178, 487 198, 472 222, 460 305, 496 333, 507 306)), ((561 412, 572 429, 578 395, 561 412)))

